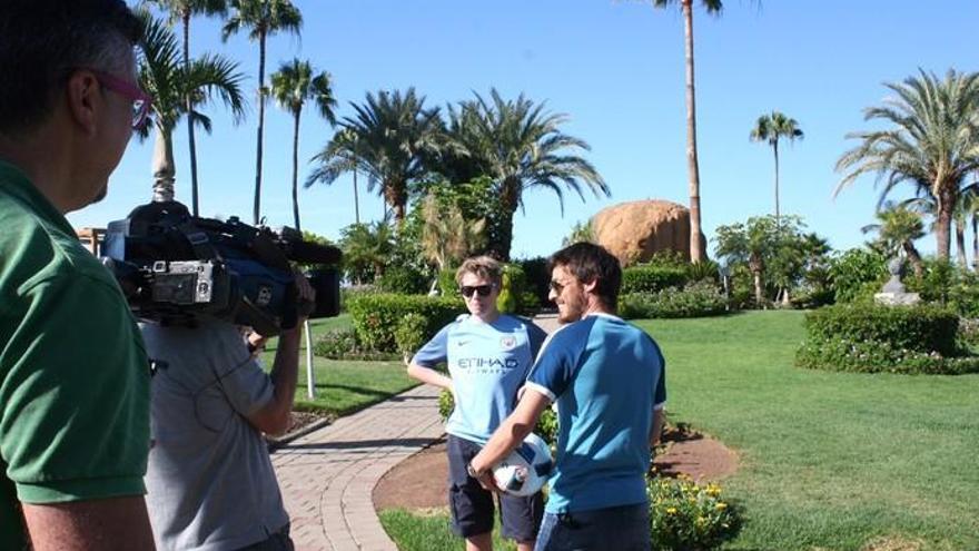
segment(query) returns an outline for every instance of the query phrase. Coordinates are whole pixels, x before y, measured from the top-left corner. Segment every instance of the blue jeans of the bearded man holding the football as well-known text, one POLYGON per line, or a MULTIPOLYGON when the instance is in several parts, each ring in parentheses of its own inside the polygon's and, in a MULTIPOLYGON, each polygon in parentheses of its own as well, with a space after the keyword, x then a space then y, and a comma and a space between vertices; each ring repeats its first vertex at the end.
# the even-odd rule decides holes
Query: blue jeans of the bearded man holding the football
POLYGON ((544 513, 534 551, 650 551, 646 503, 576 513, 544 513))

